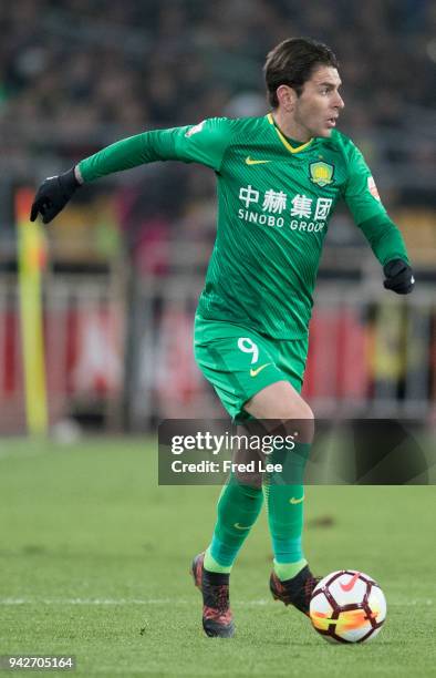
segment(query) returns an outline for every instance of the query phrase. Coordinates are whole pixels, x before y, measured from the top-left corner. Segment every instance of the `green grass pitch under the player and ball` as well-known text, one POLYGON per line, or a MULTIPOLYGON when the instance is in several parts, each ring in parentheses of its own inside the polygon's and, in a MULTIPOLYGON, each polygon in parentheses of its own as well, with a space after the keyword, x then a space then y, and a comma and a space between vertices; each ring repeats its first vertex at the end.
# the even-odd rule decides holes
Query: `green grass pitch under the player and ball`
POLYGON ((83 676, 436 676, 434 486, 307 489, 313 571, 385 592, 373 644, 330 645, 270 598, 264 514, 232 574, 237 636, 210 639, 188 569, 219 487, 158 487, 156 456, 153 440, 0 443, 1 655, 74 655, 83 676))

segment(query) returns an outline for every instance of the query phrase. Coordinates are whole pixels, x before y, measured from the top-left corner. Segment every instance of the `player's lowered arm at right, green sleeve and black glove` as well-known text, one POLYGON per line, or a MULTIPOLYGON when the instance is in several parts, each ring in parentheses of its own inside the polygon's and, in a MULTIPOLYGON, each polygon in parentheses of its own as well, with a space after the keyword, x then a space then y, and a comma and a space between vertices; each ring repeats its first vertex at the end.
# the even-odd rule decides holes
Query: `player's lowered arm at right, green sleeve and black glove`
POLYGON ((349 177, 344 198, 355 223, 383 266, 384 287, 398 295, 413 290, 415 279, 403 236, 388 217, 362 153, 350 143, 346 148, 349 177))

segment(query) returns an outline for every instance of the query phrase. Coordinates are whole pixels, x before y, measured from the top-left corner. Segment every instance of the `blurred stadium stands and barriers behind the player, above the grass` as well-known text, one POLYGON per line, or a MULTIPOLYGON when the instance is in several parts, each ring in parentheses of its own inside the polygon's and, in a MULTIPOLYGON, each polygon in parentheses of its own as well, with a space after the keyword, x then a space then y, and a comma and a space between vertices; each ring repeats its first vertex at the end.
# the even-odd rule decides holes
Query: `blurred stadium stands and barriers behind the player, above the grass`
MULTIPOLYGON (((305 394, 319 415, 425 415, 436 399, 435 6, 421 0, 87 2, 0 10, 0 430, 24 428, 17 296, 17 189, 34 189, 144 130, 268 111, 261 65, 288 35, 341 62, 340 129, 363 150, 416 268, 409 299, 342 209, 330 227, 305 394)), ((191 318, 215 234, 215 177, 157 163, 81 191, 46 229, 50 420, 149 430, 220 415, 197 370, 191 318)))

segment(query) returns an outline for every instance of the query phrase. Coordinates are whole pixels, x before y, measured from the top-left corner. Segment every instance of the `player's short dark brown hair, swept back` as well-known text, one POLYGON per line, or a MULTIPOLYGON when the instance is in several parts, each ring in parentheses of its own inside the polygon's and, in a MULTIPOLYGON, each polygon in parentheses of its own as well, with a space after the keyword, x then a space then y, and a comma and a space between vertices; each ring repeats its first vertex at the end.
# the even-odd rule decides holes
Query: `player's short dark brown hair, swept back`
POLYGON ((277 109, 279 105, 277 88, 281 84, 289 85, 300 96, 304 83, 318 65, 339 66, 334 52, 322 42, 310 38, 289 38, 274 47, 263 66, 271 106, 277 109))

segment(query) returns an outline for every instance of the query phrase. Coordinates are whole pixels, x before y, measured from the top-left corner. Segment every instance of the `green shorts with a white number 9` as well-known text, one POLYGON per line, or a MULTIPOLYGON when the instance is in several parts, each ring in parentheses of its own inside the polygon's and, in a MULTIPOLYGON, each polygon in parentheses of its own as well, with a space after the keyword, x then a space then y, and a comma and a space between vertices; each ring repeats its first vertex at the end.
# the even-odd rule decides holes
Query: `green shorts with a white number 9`
POLYGON ((308 357, 308 337, 271 339, 232 322, 196 316, 194 355, 232 419, 248 419, 245 403, 276 381, 300 392, 308 357))

